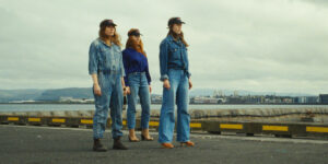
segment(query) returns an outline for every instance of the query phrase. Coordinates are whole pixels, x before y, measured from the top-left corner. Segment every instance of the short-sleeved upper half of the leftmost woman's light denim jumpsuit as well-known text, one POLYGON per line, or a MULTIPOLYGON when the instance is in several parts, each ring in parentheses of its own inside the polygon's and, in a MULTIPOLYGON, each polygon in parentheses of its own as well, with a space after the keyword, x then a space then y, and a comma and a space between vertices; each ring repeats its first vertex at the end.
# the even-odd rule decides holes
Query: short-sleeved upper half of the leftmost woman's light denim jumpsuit
POLYGON ((99 38, 92 42, 89 50, 89 74, 98 72, 126 75, 120 47, 115 44, 108 46, 99 38))

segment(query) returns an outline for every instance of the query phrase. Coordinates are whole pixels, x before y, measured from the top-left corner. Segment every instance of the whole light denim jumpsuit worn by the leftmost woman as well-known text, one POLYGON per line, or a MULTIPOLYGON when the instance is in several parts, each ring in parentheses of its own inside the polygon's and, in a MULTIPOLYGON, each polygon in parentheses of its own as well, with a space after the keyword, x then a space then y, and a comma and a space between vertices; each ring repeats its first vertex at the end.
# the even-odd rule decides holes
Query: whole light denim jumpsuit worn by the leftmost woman
POLYGON ((122 86, 125 75, 120 47, 113 44, 110 47, 99 38, 95 39, 89 51, 89 73, 97 73, 102 95, 95 95, 95 114, 93 117, 93 138, 101 139, 106 129, 108 109, 110 105, 113 138, 122 136, 121 110, 122 86))

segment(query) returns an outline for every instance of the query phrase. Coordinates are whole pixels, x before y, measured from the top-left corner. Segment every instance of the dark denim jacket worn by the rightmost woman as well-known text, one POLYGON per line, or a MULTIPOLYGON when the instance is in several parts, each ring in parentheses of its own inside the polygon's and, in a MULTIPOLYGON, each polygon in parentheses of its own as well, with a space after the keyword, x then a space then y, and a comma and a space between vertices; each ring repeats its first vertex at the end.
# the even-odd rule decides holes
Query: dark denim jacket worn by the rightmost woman
POLYGON ((168 69, 185 70, 188 78, 191 75, 186 46, 181 40, 174 40, 171 35, 164 38, 160 45, 161 81, 168 79, 168 69))

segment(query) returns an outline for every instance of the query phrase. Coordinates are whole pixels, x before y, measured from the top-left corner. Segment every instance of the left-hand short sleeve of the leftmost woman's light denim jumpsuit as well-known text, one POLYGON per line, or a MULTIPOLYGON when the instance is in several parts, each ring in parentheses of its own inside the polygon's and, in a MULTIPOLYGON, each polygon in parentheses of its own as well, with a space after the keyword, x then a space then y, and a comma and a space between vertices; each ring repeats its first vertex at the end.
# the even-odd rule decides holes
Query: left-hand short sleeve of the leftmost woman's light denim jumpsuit
POLYGON ((89 74, 97 73, 97 71, 98 71, 97 48, 96 45, 92 43, 89 49, 89 74))

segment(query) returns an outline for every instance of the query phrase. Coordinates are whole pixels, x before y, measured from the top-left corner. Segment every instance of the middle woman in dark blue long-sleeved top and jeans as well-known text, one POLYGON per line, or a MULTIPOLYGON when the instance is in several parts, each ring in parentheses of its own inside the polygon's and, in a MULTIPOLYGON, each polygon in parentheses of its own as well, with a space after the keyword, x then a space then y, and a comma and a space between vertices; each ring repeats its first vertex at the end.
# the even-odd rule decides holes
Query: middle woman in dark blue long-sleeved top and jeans
POLYGON ((128 94, 128 110, 127 121, 129 128, 129 141, 140 141, 136 137, 136 106, 138 103, 138 95, 142 108, 141 114, 141 139, 152 141, 153 138, 149 136, 149 120, 150 120, 150 92, 151 77, 149 73, 149 66, 147 55, 143 50, 143 44, 140 38, 138 28, 131 28, 128 32, 128 40, 126 49, 122 51, 122 60, 126 70, 125 83, 126 92, 128 94))

